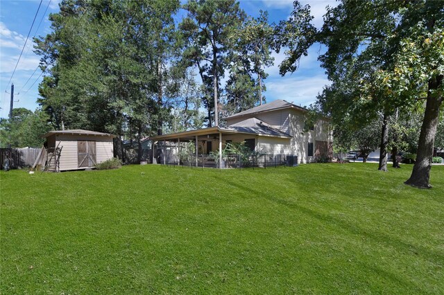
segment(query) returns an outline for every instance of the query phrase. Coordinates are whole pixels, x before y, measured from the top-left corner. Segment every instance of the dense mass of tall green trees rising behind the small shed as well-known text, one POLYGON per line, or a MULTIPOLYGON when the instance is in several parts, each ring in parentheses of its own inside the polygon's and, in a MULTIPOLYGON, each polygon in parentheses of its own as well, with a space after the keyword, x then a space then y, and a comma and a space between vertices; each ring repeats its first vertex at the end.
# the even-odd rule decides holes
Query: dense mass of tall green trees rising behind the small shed
MULTIPOLYGON (((128 138, 157 133, 178 1, 62 1, 53 32, 37 39, 48 76, 40 104, 56 129, 128 138)), ((161 126, 160 126, 161 128, 161 126)))

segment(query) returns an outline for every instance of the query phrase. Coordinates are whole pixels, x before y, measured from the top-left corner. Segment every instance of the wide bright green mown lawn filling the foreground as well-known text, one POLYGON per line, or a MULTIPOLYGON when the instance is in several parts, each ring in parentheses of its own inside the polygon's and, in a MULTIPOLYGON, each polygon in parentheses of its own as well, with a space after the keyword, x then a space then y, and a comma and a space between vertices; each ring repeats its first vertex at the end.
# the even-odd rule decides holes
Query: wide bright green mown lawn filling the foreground
POLYGON ((443 294, 444 166, 0 173, 1 294, 443 294))

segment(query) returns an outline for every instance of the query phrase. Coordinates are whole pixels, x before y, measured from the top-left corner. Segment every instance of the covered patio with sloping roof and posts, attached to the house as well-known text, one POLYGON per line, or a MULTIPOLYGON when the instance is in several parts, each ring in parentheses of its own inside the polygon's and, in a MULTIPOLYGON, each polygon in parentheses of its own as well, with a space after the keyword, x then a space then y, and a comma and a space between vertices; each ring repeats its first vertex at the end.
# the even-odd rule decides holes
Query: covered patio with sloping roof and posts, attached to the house
POLYGON ((153 162, 172 165, 187 165, 208 168, 241 167, 239 154, 225 154, 222 151, 227 143, 242 143, 251 152, 257 150, 259 138, 286 138, 278 129, 259 120, 250 126, 209 127, 186 132, 178 132, 153 137, 157 141, 153 152, 153 162), (192 152, 192 154, 191 154, 192 152), (185 161, 187 163, 185 163, 185 161))

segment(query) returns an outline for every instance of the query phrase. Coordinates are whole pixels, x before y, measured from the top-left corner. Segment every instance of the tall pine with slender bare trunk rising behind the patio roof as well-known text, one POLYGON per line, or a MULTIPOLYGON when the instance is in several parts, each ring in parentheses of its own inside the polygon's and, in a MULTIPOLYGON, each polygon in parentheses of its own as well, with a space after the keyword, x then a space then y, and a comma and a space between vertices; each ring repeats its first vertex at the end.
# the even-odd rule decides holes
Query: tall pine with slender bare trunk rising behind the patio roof
POLYGON ((214 109, 214 125, 218 126, 220 80, 227 66, 229 36, 241 25, 244 11, 235 0, 191 0, 183 7, 188 12, 180 24, 187 40, 184 59, 198 68, 205 85, 203 103, 208 110, 208 125, 212 126, 211 109, 214 109))

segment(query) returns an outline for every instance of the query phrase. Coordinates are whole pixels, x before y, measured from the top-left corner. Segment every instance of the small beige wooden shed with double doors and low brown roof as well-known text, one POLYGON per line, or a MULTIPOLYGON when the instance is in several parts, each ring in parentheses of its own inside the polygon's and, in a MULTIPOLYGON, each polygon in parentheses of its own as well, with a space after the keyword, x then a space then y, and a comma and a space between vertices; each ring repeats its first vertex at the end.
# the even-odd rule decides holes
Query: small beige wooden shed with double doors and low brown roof
POLYGON ((114 157, 114 135, 83 129, 51 131, 46 138, 48 170, 66 171, 93 168, 114 157))

